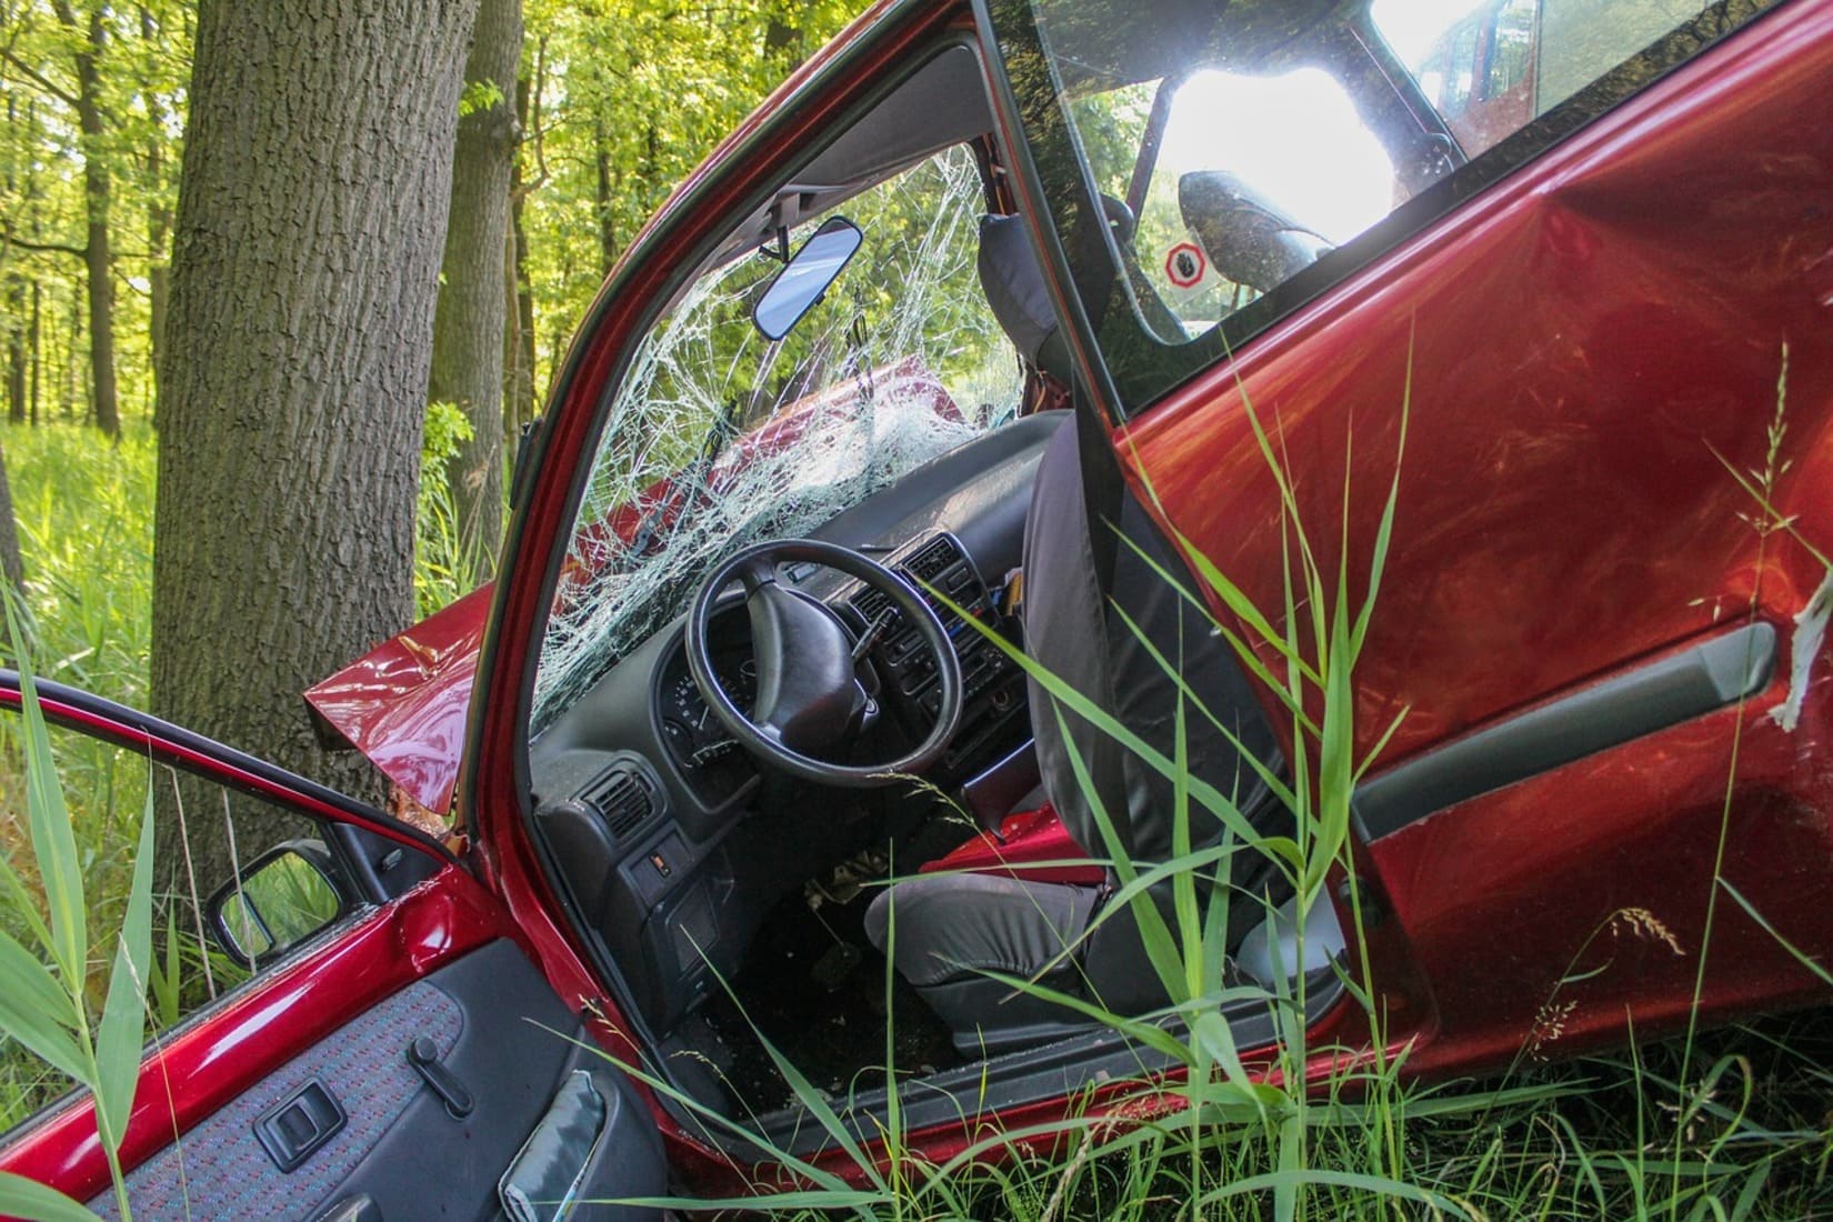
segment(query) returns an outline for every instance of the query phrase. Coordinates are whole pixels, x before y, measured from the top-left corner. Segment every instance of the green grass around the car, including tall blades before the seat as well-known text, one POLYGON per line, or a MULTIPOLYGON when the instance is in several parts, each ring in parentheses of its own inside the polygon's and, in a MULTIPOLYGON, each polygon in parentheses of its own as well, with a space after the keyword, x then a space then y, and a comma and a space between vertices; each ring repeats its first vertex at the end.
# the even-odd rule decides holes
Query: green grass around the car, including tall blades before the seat
MULTIPOLYGON (((152 436, 130 427, 121 445, 110 447, 82 427, 0 425, 0 438, 26 555, 38 672, 145 707, 152 436)), ((449 445, 451 432, 434 429, 431 442, 449 445)), ((1762 476, 1754 480, 1760 493, 1762 476)), ((1272 639, 1279 665, 1268 669, 1259 660, 1250 665, 1283 693, 1296 738, 1305 744, 1300 780, 1289 791, 1305 817, 1294 837, 1252 850, 1274 854, 1296 889, 1314 892, 1323 868, 1344 852, 1347 790, 1364 762, 1347 749, 1344 700, 1371 612, 1351 606, 1344 592, 1378 583, 1360 581, 1367 568, 1355 575, 1358 581, 1349 581, 1347 570, 1320 572, 1287 500, 1285 616, 1267 619, 1235 606, 1239 592, 1221 573, 1204 577, 1250 630, 1268 634, 1274 623, 1283 625, 1272 639), (1307 694, 1309 705, 1301 698, 1307 694)), ((453 539, 445 526, 447 504, 440 487, 423 491, 418 573, 423 612, 462 594, 456 573, 475 559, 467 557, 469 544, 453 539)), ((1364 557, 1362 564, 1378 572, 1378 561, 1364 557)), ((1058 694, 1074 702, 1074 693, 1058 694)), ((1191 694, 1186 718, 1197 716, 1206 713, 1191 694)), ((29 810, 22 801, 27 751, 11 727, 15 720, 0 718, 9 727, 0 729, 0 850, 18 868, 26 890, 42 900, 38 854, 26 834, 29 810)), ((1114 731, 1125 735, 1125 727, 1114 731)), ((103 947, 128 907, 132 846, 143 830, 145 764, 79 735, 60 735, 55 749, 71 812, 71 845, 88 887, 82 923, 88 945, 103 947)), ((1160 764, 1180 769, 1177 758, 1160 764)), ((1190 786, 1179 801, 1191 826, 1206 826, 1204 821, 1232 826, 1239 815, 1226 795, 1190 786)), ((1184 846, 1202 839, 1186 832, 1184 846)), ((851 1182, 803 1167, 808 1189, 783 1195, 775 1215, 816 1218, 840 1211, 871 1218, 1032 1222, 1833 1217, 1828 1184, 1833 1072, 1826 1068, 1833 1064, 1833 1019, 1826 1013, 1703 1031, 1560 1066, 1523 1063, 1501 1079, 1433 1088, 1410 1085, 1404 1064, 1364 1061, 1307 1096, 1268 1086, 1243 1070, 1226 1031, 1202 1022, 1215 1000, 1204 989, 1204 964, 1213 960, 1221 933, 1202 922, 1204 905, 1197 900, 1202 889, 1221 885, 1223 872, 1201 850, 1186 852, 1182 867, 1175 918, 1160 922, 1149 942, 1177 1008, 1191 1020, 1193 1035, 1169 1048, 1191 1085, 1162 1097, 1155 1119, 1122 1130, 1085 1114, 1032 1132, 1023 1143, 1014 1134, 990 1134, 962 1158, 933 1167, 902 1143, 893 1116, 889 1167, 873 1165, 851 1182)), ((1135 885, 1144 881, 1140 874, 1133 878, 1135 885)), ((16 938, 29 933, 26 925, 16 912, 0 918, 0 929, 16 938)), ((176 1019, 174 980, 185 969, 181 962, 148 967, 154 1024, 176 1019)), ((1351 973, 1349 984, 1356 978, 1351 973)), ((92 1011, 101 1013, 108 991, 101 955, 90 956, 82 989, 92 1011)), ((1307 1055, 1329 1052, 1307 1046, 1296 1020, 1301 998, 1267 993, 1259 1000, 1287 1031, 1287 1070, 1296 1070, 1307 1055)), ((1351 1004, 1360 1002, 1351 998, 1351 1004)), ((1107 1019, 1127 1022, 1118 1015, 1107 1019)), ((792 1083, 799 1081, 794 1066, 785 1070, 792 1083)), ((0 1127, 22 1119, 66 1085, 35 1057, 0 1050, 0 1127)), ((1136 1090, 1142 1097, 1151 1094, 1146 1085, 1136 1090)), ((812 1088, 805 1101, 818 1116, 827 1107, 812 1088)), ((838 1125, 832 1114, 827 1121, 838 1125)))

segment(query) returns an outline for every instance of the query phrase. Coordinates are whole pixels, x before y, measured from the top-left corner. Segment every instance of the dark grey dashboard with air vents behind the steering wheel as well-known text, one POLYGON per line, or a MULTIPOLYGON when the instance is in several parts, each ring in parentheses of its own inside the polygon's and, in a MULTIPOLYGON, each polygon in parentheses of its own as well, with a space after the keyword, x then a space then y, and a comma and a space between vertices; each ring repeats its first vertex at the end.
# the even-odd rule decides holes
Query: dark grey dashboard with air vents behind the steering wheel
MULTIPOLYGON (((1028 736, 1025 678, 966 617, 1015 636, 999 590, 1023 553, 1030 484, 1067 412, 1028 416, 845 509, 818 539, 904 573, 937 608, 962 669, 960 726, 926 782, 944 795, 1028 736), (933 594, 960 608, 955 614, 933 594)), ((858 636, 882 595, 818 566, 783 581, 858 636)), ((862 682, 880 716, 836 762, 895 758, 935 722, 935 661, 896 612, 862 682)), ((568 905, 616 966, 645 1022, 667 1033, 742 962, 770 907, 840 861, 891 790, 821 790, 761 766, 687 671, 676 619, 631 650, 530 744, 537 845, 568 905)), ((733 592, 709 621, 713 671, 741 709, 757 694, 750 619, 733 592)))

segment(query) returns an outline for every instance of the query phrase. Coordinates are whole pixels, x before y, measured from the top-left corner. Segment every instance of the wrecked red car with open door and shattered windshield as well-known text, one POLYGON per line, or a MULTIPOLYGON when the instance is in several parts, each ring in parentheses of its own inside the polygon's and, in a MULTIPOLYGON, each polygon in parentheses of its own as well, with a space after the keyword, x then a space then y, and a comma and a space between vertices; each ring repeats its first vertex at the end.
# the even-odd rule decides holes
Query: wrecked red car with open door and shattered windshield
MULTIPOLYGON (((1089 1009, 1193 1015, 1114 863, 1290 835, 1318 760, 1294 524, 1351 601, 1382 559, 1373 758, 1327 887, 1204 883, 1250 1064, 1224 984, 1417 1075, 1826 1000, 1829 114, 1826 0, 874 7, 610 275, 497 586, 313 689, 462 835, 48 689, 317 824, 213 903, 257 971, 148 1055, 134 1202, 742 1193, 739 1127, 845 1169, 764 1041, 869 1151, 891 1092, 929 1158, 1111 1107, 1166 1061, 1089 1009)), ((99 1198, 88 1101, 0 1167, 99 1198)))

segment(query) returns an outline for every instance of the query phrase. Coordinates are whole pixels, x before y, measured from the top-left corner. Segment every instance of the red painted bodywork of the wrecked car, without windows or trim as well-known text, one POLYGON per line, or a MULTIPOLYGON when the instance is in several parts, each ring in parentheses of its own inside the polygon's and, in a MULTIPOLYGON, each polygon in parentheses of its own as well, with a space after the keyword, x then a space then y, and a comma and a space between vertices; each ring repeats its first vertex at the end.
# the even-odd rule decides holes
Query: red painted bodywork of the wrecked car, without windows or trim
MULTIPOLYGON (((548 592, 565 584, 572 473, 590 462, 599 405, 676 269, 730 229, 796 148, 951 29, 971 33, 964 7, 876 5, 728 137, 632 244, 566 359, 533 454, 557 475, 522 495, 500 583, 312 693, 416 801, 444 810, 460 795, 471 872, 445 867, 176 1037, 148 1064, 128 1163, 165 1141, 167 1070, 185 1129, 315 1031, 493 936, 515 938, 561 997, 599 1015, 596 1033, 614 1055, 643 1053, 563 916, 521 779, 532 650, 548 592)), ((1512 126, 1523 104, 1503 92, 1483 121, 1512 126)), ((1367 984, 1388 1015, 1382 1037, 1408 1046, 1413 1074, 1576 1052, 1622 1039, 1626 1022, 1642 1035, 1694 1013, 1719 1020, 1826 1000, 1820 980, 1725 894, 1708 940, 1707 905, 1723 878, 1798 947, 1833 947, 1828 649, 1807 660, 1807 680, 1789 656, 1798 616, 1826 581, 1820 557, 1833 551, 1828 114, 1833 4, 1784 4, 1114 431, 1124 473, 1160 524, 1261 606, 1279 606, 1285 518, 1248 410, 1301 473, 1300 517, 1331 524, 1312 540, 1334 572, 1340 548, 1366 557, 1375 546, 1367 506, 1393 475, 1406 398, 1399 526, 1356 672, 1358 749, 1406 713, 1375 779, 1602 691, 1727 627, 1774 628, 1774 672, 1736 704, 1353 845, 1380 912, 1366 936, 1367 984), (1756 529, 1763 509, 1736 475, 1771 462, 1784 343, 1789 465, 1773 507, 1791 529, 1756 529), (1338 535, 1345 487, 1355 511, 1338 535), (1798 722, 1784 729, 1771 715, 1791 700, 1798 722)), ((1021 145, 1001 121, 1006 145, 1021 145)), ((1025 214, 1047 214, 1023 178, 1006 191, 1025 214)), ((1058 304, 1072 293, 1058 277, 1058 304)), ((1089 383, 1102 385, 1089 335, 1070 339, 1089 383)), ((1122 418, 1118 403, 1102 407, 1122 418)), ((819 410, 781 427, 807 427, 819 410)), ((609 531, 629 540, 632 515, 612 515, 609 531)), ((1215 612, 1241 628, 1228 608, 1215 612)), ((1278 663, 1270 650, 1265 660, 1278 663)), ((1001 832, 926 868, 1087 868, 1061 865, 1080 850, 1048 808, 1012 815, 1001 832)), ((1366 1048, 1367 1019, 1338 1006, 1316 1024, 1316 1046, 1331 1041, 1366 1048)), ((1320 1055, 1312 1074, 1327 1075, 1338 1055, 1320 1055)), ((1245 1057, 1265 1064, 1268 1050, 1245 1057)), ((1111 1085, 1094 1107, 1151 1107, 1122 1096, 1111 1085)), ((653 1105, 680 1184, 755 1184, 753 1169, 653 1105)), ((904 1145, 942 1160, 982 1121, 1045 1123, 1065 1107, 1030 1099, 904 1145)), ((840 1151, 816 1162, 847 1169, 840 1151)), ((68 1105, 0 1152, 0 1165, 79 1196, 97 1191, 106 1167, 88 1105, 68 1105)))

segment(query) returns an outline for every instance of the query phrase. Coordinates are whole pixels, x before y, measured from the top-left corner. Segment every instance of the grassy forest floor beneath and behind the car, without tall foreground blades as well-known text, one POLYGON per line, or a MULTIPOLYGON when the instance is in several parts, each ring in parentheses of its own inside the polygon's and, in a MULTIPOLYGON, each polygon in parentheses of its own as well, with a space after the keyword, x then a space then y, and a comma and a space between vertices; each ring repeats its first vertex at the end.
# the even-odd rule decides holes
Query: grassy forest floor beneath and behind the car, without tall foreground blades
MULTIPOLYGON (((152 438, 130 431, 108 447, 73 427, 11 427, 0 438, 38 672, 145 705, 152 438)), ((449 557, 423 562, 423 605, 449 586, 449 557)), ((20 757, 11 736, 0 749, 0 850, 18 867, 31 859, 20 757)), ((57 764, 92 878, 95 944, 121 920, 145 775, 101 747, 66 749, 57 764)), ((938 1169, 913 1160, 865 1189, 785 1198, 779 1213, 1034 1222, 1833 1217, 1833 1024, 1824 1013, 1567 1064, 1523 1061, 1505 1079, 1430 1090, 1408 1085, 1404 1064, 1364 1066, 1311 1099, 1250 1090, 1210 1052, 1193 1042, 1190 1063, 1193 1081, 1213 1088, 1188 1090, 1142 1129, 1072 1125, 1003 1162, 938 1169)), ((22 1050, 5 1048, 0 1127, 59 1088, 22 1050)), ((986 1145, 992 1152, 1006 1140, 986 1145)))

